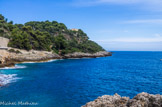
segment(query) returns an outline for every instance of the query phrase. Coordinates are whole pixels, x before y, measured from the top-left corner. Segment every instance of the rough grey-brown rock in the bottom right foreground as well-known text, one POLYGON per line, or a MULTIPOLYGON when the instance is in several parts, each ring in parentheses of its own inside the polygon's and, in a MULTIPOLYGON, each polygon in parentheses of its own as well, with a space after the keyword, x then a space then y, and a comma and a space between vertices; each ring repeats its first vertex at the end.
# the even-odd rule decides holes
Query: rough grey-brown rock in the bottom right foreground
POLYGON ((162 95, 143 92, 133 99, 121 97, 118 94, 114 96, 104 95, 82 107, 162 107, 162 95))

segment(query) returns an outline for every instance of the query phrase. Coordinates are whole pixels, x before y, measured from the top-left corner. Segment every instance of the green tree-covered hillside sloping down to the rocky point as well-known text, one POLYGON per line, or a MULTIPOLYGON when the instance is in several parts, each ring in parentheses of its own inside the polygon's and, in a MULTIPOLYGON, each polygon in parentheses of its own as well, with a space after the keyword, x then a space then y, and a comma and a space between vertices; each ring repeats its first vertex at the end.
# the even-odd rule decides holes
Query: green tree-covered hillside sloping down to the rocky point
POLYGON ((0 15, 0 36, 10 39, 8 46, 25 50, 46 50, 59 54, 95 53, 104 49, 90 41, 81 29, 69 30, 56 21, 31 21, 25 24, 7 22, 0 15))

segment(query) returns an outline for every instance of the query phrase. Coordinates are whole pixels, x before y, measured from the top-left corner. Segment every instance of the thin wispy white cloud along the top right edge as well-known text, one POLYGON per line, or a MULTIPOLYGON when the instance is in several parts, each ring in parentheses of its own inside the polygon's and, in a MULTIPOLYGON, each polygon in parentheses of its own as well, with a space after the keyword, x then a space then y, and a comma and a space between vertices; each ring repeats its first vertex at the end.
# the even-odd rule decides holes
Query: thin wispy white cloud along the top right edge
POLYGON ((138 8, 162 11, 162 0, 74 0, 75 6, 138 5, 138 8))

